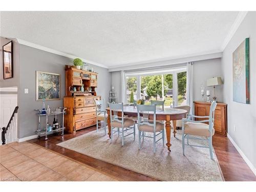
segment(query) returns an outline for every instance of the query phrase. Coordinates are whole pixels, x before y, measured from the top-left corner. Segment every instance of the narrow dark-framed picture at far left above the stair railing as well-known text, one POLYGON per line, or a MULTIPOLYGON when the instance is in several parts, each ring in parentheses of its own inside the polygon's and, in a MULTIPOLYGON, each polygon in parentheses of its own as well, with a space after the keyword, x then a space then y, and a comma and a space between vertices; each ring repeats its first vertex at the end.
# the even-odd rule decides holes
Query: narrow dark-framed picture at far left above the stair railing
POLYGON ((3 46, 3 74, 4 79, 13 78, 13 48, 12 41, 3 46))

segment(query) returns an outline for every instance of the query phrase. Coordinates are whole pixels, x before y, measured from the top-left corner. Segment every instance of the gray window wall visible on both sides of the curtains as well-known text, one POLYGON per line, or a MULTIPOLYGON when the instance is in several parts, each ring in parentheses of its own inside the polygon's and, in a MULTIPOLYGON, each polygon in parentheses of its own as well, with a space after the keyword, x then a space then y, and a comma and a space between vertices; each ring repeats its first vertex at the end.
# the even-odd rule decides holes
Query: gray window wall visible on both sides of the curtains
MULTIPOLYGON (((218 59, 209 59, 209 60, 202 60, 202 61, 195 61, 193 62, 193 73, 194 73, 194 100, 201 100, 201 83, 205 82, 205 90, 210 90, 210 98, 212 100, 214 94, 213 87, 206 87, 206 80, 212 77, 222 77, 221 75, 221 60, 218 59)), ((120 102, 120 93, 121 93, 121 76, 120 72, 111 72, 112 75, 112 85, 115 87, 117 92, 117 100, 120 102)), ((223 94, 222 94, 222 87, 216 87, 216 95, 218 101, 223 101, 223 94)), ((204 96, 206 99, 206 96, 204 96)))

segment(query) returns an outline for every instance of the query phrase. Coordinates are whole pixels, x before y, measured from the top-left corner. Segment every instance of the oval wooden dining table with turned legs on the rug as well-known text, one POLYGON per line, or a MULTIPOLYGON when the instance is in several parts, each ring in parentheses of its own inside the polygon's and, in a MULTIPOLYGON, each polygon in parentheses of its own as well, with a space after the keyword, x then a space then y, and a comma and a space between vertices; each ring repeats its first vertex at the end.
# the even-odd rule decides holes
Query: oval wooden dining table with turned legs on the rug
MULTIPOLYGON (((109 128, 109 137, 111 138, 111 126, 110 126, 110 108, 106 108, 106 111, 108 113, 108 128, 109 128)), ((112 111, 113 113, 113 111, 112 111)), ((176 108, 156 108, 156 120, 161 120, 165 122, 165 131, 166 131, 166 146, 168 147, 168 151, 170 151, 170 146, 172 144, 170 143, 170 134, 171 134, 171 126, 173 121, 173 133, 174 137, 176 136, 176 120, 180 120, 182 118, 186 118, 187 111, 182 109, 176 109, 176 108)), ((122 116, 122 111, 118 110, 117 115, 119 117, 122 116)), ((125 117, 138 117, 138 112, 136 106, 123 106, 123 115, 125 117)), ((154 120, 154 113, 151 112, 149 115, 150 120, 154 120)))

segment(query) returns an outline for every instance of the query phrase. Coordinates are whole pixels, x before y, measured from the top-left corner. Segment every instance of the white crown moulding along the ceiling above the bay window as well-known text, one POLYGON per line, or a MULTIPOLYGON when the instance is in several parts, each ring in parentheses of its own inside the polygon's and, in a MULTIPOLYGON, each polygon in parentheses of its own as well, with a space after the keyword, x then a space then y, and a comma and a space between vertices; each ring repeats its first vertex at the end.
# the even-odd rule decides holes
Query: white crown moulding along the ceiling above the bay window
POLYGON ((211 51, 208 53, 197 53, 197 54, 189 54, 189 55, 183 55, 183 56, 173 57, 173 58, 165 58, 165 59, 162 58, 162 59, 156 59, 156 60, 127 63, 126 65, 123 64, 119 66, 110 67, 108 71, 113 72, 113 71, 134 70, 134 69, 159 67, 159 66, 162 67, 167 65, 175 65, 180 63, 207 60, 207 59, 216 59, 221 57, 222 57, 222 52, 218 50, 218 51, 211 51))

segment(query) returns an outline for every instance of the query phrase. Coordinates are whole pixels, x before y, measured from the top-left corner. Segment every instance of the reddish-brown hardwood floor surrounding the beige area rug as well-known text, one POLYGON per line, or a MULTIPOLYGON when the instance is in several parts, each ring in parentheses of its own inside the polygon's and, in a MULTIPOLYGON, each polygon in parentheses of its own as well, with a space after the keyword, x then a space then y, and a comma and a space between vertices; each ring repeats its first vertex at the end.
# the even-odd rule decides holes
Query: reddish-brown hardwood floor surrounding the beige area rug
MULTIPOLYGON (((49 136, 47 141, 45 141, 44 137, 42 137, 40 140, 32 139, 29 142, 36 143, 40 146, 48 148, 49 150, 92 166, 100 172, 119 178, 123 181, 157 181, 151 177, 144 176, 131 170, 79 154, 56 145, 60 142, 94 131, 95 129, 96 127, 92 126, 76 132, 76 135, 66 134, 63 138, 61 136, 52 135, 49 136)), ((245 163, 243 158, 227 137, 216 134, 212 140, 212 144, 214 145, 225 181, 256 181, 256 176, 254 176, 248 165, 245 163)))

